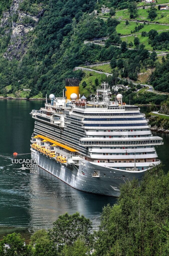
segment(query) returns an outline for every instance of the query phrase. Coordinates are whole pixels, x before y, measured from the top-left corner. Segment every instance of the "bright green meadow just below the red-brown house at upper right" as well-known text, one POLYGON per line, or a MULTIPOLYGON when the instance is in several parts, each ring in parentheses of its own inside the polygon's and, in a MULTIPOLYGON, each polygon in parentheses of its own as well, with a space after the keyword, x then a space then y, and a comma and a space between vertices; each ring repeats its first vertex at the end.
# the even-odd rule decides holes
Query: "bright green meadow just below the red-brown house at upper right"
POLYGON ((155 17, 153 21, 148 18, 148 10, 149 9, 138 9, 138 15, 135 19, 130 19, 130 14, 128 10, 119 10, 115 13, 115 18, 125 20, 146 20, 148 22, 169 24, 169 10, 156 10, 157 17, 155 17))

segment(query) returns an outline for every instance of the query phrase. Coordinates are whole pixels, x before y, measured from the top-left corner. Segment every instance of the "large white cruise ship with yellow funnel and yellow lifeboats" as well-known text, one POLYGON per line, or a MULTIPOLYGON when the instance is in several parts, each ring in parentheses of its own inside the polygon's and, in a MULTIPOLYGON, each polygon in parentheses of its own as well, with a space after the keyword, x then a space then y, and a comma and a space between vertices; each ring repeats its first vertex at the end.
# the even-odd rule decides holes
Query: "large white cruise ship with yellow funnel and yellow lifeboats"
POLYGON ((63 97, 49 95, 35 119, 31 157, 47 172, 73 188, 118 197, 120 185, 141 179, 147 169, 160 164, 153 136, 140 108, 112 101, 103 82, 91 101, 79 94, 79 80, 65 79, 63 97))

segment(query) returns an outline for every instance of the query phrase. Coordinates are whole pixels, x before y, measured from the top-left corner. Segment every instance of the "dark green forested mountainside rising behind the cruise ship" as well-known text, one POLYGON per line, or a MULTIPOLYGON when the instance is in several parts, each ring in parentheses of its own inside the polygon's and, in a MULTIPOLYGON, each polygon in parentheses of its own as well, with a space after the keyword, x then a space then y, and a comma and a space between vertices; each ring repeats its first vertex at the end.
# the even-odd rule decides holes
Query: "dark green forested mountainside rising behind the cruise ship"
MULTIPOLYGON (((124 34, 127 33, 126 31, 131 33, 129 28, 126 30, 130 25, 133 27, 132 30, 137 29, 136 33, 148 32, 144 36, 139 35, 137 39, 131 37, 133 46, 131 42, 127 42, 129 47, 135 47, 135 50, 131 51, 126 48, 125 40, 122 41, 123 38, 118 34, 123 33, 123 29, 119 30, 119 27, 124 22, 119 22, 114 17, 103 20, 99 15, 92 13, 96 9, 99 14, 103 4, 109 8, 124 9, 131 4, 134 6, 132 1, 60 0, 56 3, 55 0, 18 0, 18 2, 18 9, 10 12, 7 22, 4 24, 4 18, 1 20, 3 25, 0 28, 0 96, 39 98, 51 92, 61 96, 65 77, 78 77, 81 81, 81 94, 87 93, 88 96, 96 88, 96 78, 100 82, 104 77, 99 78, 95 73, 93 77, 85 78, 85 73, 80 70, 73 71, 73 68, 110 60, 115 66, 112 66, 109 72, 117 70, 122 78, 129 77, 134 81, 137 81, 141 69, 157 66, 153 72, 153 76, 157 78, 155 84, 153 78, 150 82, 156 90, 168 91, 168 84, 164 85, 165 82, 162 82, 166 80, 168 71, 163 69, 163 64, 157 64, 154 53, 150 54, 141 44, 148 41, 149 48, 161 47, 161 50, 166 50, 168 32, 163 32, 167 34, 163 34, 162 37, 161 32, 160 35, 153 33, 156 30, 152 26, 160 28, 159 24, 144 24, 140 30, 139 23, 125 25, 124 34), (24 20, 20 19, 18 11, 27 14, 24 20), (36 21, 37 17, 38 21, 36 21), (28 33, 14 36, 15 24, 20 22, 25 28, 31 26, 32 29, 28 33), (99 45, 84 44, 84 40, 105 37, 108 33, 110 37, 105 40, 103 49, 99 45), (138 40, 140 36, 144 38, 143 41, 138 40), (121 45, 121 48, 113 46, 114 44, 121 45), (158 72, 159 69, 161 72, 158 72), (31 89, 31 91, 23 91, 23 89, 31 89)), ((1 2, 1 17, 3 17, 2 12, 7 10, 10 4, 11 1, 1 2)), ((167 57, 164 61, 168 63, 167 57)))

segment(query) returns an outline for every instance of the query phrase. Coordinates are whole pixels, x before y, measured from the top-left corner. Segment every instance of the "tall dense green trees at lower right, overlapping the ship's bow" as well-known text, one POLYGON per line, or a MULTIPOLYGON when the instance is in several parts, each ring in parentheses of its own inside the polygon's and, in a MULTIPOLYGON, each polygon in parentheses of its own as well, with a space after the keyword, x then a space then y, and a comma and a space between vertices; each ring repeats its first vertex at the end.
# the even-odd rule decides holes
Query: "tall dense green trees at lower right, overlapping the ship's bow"
POLYGON ((162 166, 154 166, 145 172, 142 181, 121 186, 118 204, 103 208, 96 256, 158 256, 166 250, 168 179, 162 166), (164 243, 161 229, 165 230, 164 243))

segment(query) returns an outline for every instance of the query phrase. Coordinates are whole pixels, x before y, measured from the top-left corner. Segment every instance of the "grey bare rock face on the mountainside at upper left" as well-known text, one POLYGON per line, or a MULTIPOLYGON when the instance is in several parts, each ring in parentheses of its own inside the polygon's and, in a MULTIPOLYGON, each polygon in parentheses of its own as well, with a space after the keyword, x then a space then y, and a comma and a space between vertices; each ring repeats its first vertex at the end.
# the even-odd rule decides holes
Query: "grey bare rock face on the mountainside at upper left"
POLYGON ((25 35, 34 29, 39 21, 39 18, 44 14, 45 9, 39 11, 37 15, 30 15, 28 13, 21 12, 18 10, 19 3, 23 0, 13 0, 10 10, 3 13, 3 18, 0 21, 0 27, 8 27, 4 32, 5 34, 10 33, 10 43, 4 54, 4 58, 12 60, 14 57, 20 59, 20 57, 26 52, 28 40, 25 35), (13 15, 17 15, 17 22, 12 22, 11 18, 13 15), (23 19, 28 18, 30 23, 24 24, 23 19), (21 40, 23 39, 24 40, 21 40))

